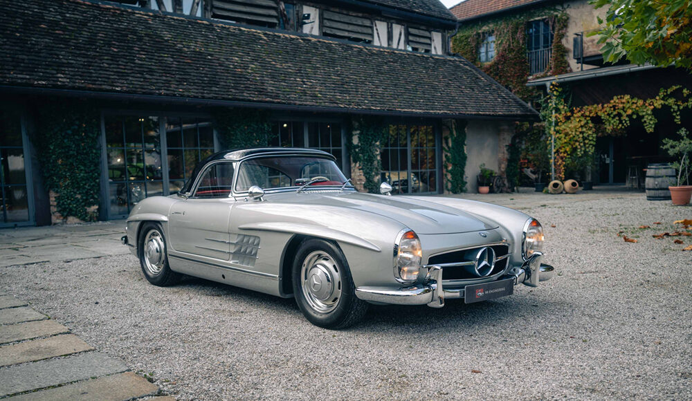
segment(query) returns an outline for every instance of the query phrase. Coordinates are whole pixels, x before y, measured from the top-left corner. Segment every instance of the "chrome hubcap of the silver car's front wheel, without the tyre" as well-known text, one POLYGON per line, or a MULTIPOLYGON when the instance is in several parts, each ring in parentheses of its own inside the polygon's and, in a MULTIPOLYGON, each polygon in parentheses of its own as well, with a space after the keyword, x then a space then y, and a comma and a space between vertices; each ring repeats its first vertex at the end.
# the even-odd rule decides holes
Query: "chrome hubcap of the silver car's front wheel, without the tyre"
POLYGON ((301 288, 307 303, 318 313, 334 310, 341 298, 341 269, 327 252, 311 252, 300 270, 301 288))

